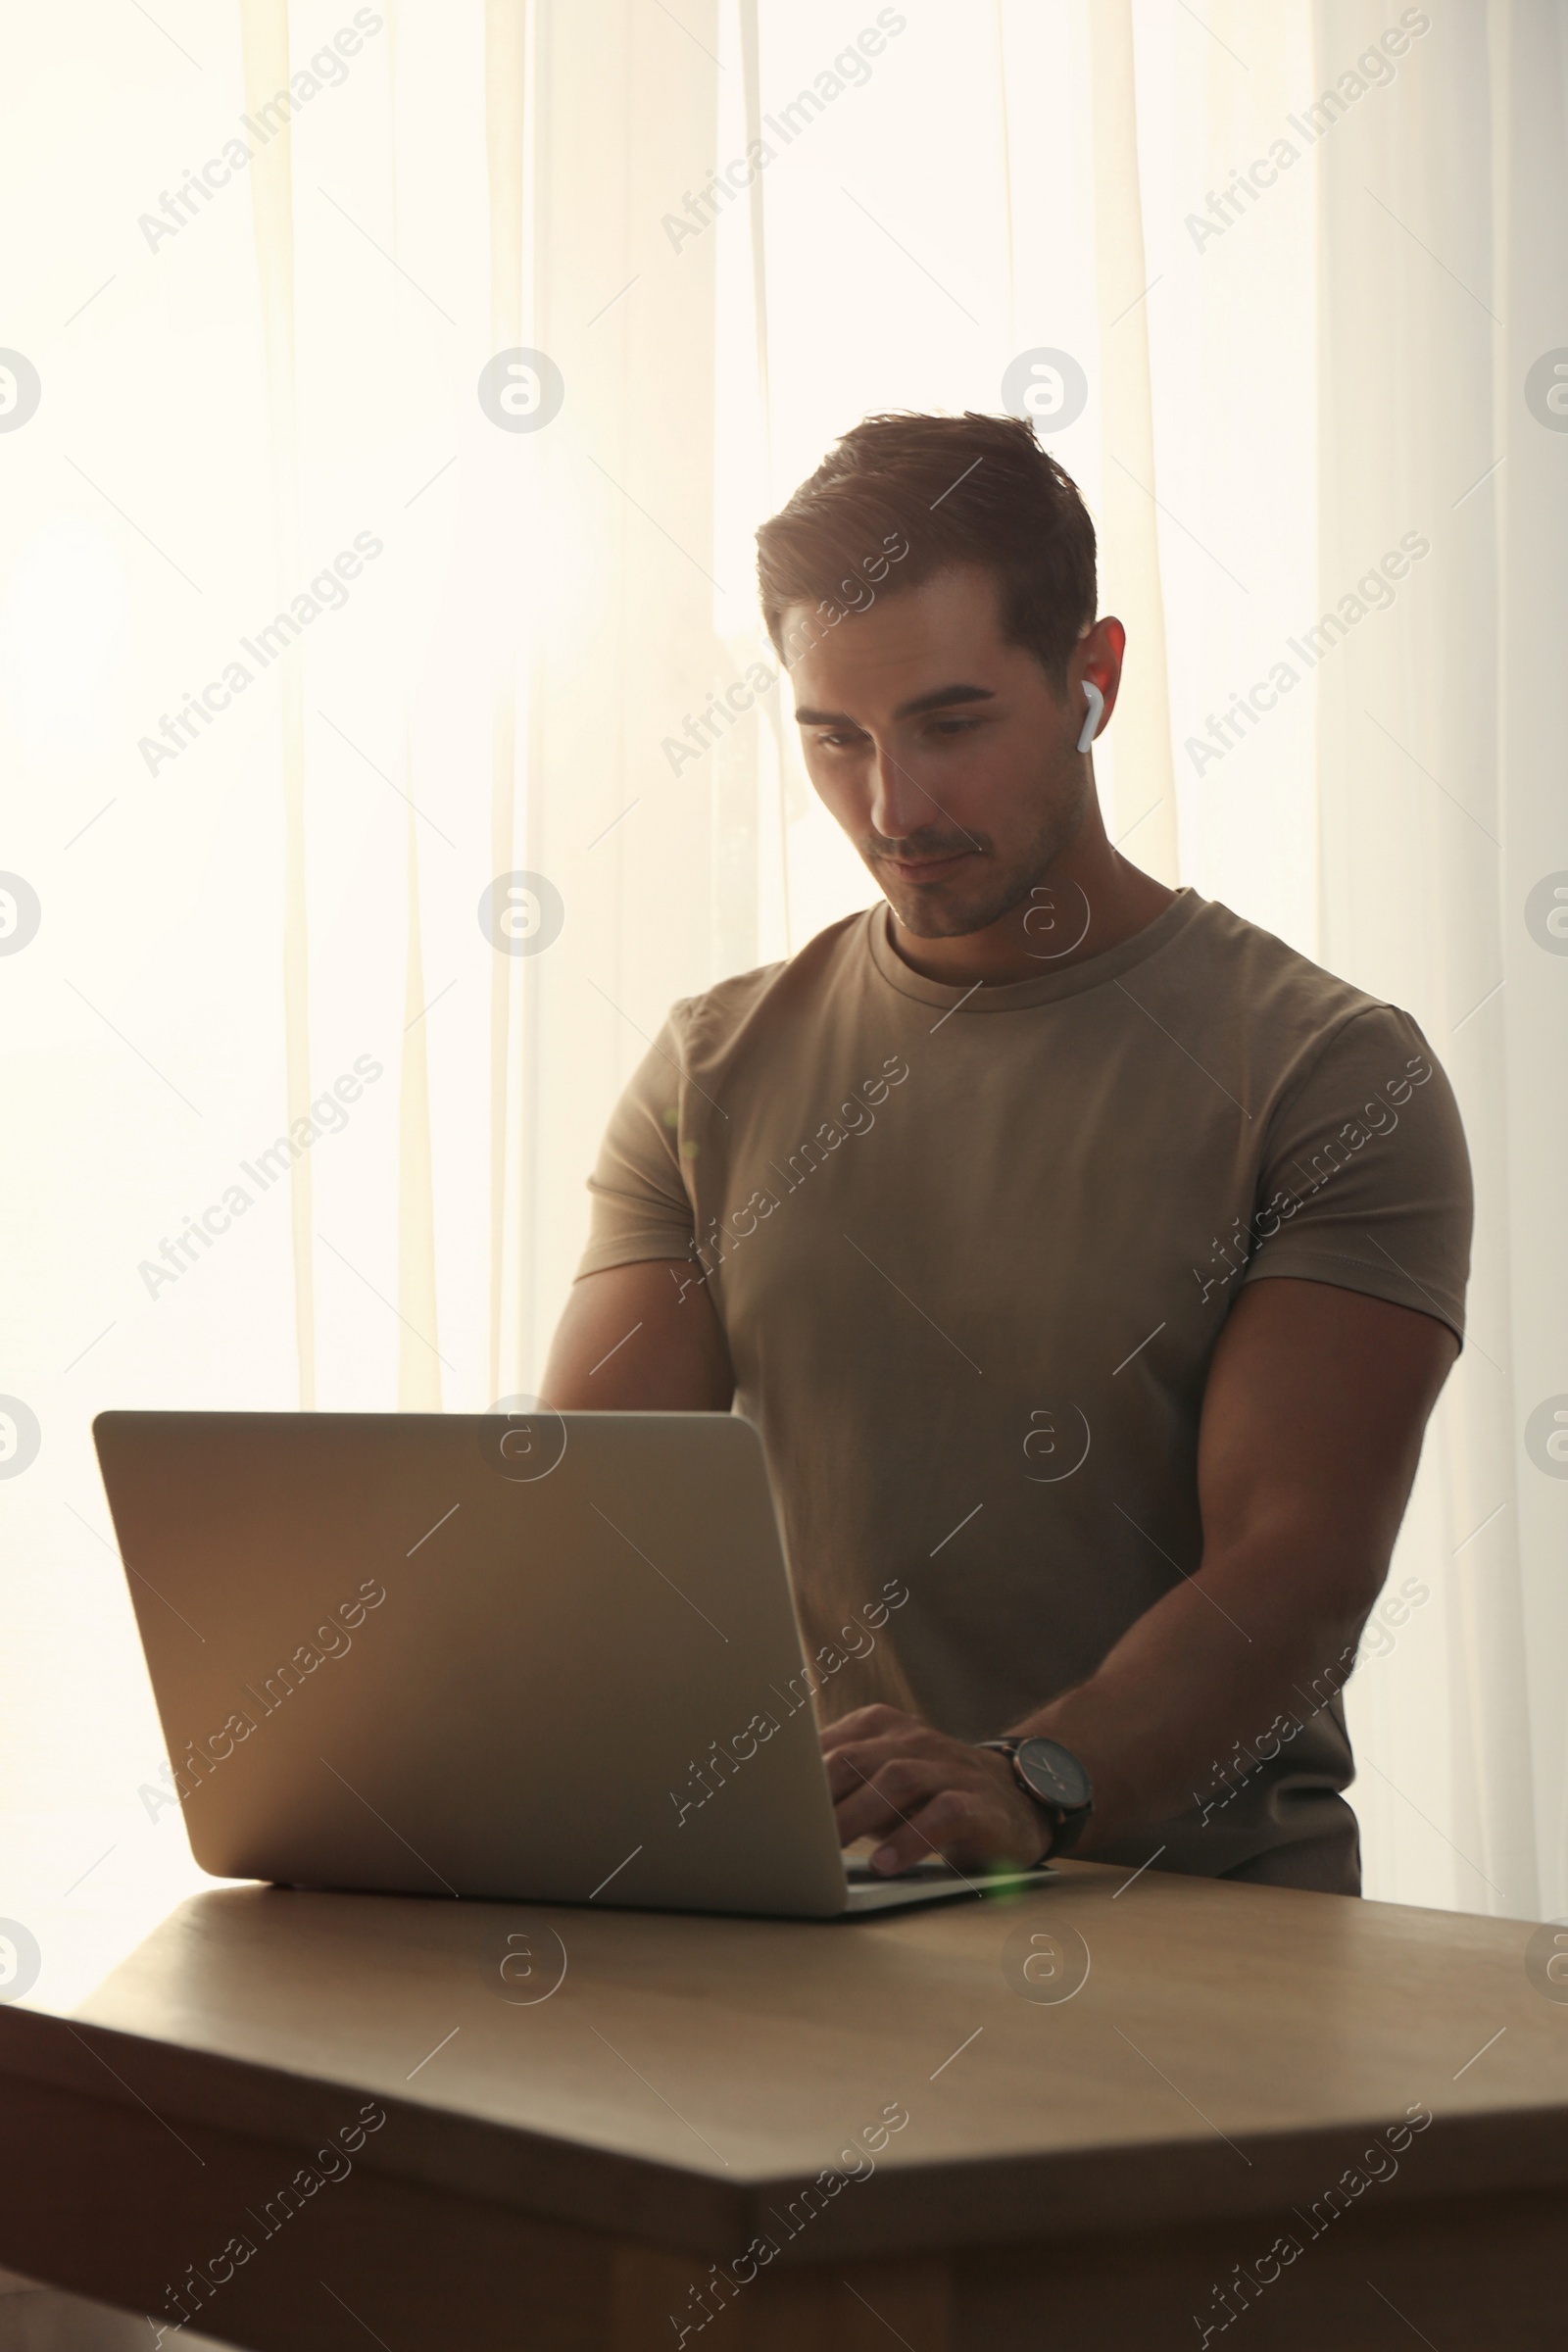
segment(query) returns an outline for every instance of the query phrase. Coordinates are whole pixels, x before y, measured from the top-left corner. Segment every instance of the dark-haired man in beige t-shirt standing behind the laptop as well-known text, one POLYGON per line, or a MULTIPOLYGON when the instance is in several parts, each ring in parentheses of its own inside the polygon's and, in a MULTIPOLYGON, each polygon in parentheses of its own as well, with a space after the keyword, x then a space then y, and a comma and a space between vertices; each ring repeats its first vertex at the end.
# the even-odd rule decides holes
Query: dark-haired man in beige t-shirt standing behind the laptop
POLYGON ((875 1867, 1359 1893, 1340 1686, 1462 1336, 1448 1082, 1107 842, 1126 633, 1030 426, 872 416, 757 541, 886 903, 672 1009, 545 1392, 759 1428, 875 1867))

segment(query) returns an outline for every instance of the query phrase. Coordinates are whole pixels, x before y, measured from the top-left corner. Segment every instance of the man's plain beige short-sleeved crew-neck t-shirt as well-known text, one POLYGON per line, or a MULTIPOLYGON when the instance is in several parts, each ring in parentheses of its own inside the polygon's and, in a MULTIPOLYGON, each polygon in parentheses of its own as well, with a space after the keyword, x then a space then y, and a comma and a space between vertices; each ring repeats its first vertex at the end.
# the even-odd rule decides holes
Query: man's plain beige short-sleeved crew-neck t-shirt
MULTIPOLYGON (((672 1009, 590 1190, 581 1275, 670 1258, 679 1296, 708 1287, 825 1719, 882 1696, 994 1736, 1199 1566, 1204 1381, 1244 1282, 1462 1334, 1469 1162, 1425 1037, 1190 889, 1004 988, 922 978, 884 906, 832 924, 672 1009)), ((1161 1870, 1354 1891, 1349 1663, 1126 1858, 1164 1837, 1161 1870)))

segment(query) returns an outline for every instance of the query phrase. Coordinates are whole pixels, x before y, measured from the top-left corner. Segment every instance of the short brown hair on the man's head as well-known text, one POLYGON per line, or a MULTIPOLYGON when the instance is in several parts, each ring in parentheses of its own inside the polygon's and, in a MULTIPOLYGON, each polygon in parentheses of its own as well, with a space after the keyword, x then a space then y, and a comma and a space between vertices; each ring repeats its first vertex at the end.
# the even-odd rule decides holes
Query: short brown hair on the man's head
POLYGON ((1095 619, 1095 529, 1072 475, 1018 416, 865 416, 757 532, 757 586, 773 652, 790 604, 837 597, 846 574, 907 541, 884 595, 952 564, 1001 586, 1009 644, 1063 689, 1095 619))

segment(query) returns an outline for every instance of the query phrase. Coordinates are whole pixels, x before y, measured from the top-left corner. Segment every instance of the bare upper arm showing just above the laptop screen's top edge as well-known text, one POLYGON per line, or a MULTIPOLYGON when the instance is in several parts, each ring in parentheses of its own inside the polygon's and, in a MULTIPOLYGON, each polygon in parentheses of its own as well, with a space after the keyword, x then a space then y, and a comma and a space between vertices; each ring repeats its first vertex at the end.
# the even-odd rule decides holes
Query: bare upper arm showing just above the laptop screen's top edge
POLYGON ((562 1414, 726 1414, 736 1376, 698 1270, 649 1258, 583 1275, 543 1392, 562 1414))

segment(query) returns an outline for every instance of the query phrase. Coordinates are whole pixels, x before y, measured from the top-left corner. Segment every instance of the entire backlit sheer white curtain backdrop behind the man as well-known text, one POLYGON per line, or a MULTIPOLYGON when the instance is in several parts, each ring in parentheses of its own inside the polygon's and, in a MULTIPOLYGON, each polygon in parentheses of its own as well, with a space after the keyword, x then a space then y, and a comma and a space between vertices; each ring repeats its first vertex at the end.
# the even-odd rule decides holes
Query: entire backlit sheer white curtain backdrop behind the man
POLYGON ((89 1416, 536 1383, 665 1004, 867 896, 788 694, 741 691, 750 532, 860 414, 997 409, 1032 353, 1081 369, 1041 428, 1131 630, 1112 830, 1408 1004, 1476 1155, 1425 1599, 1349 1693, 1368 1891, 1566 1907, 1568 1486, 1523 1444, 1568 1390, 1568 964, 1523 913, 1568 868, 1568 440, 1523 397, 1568 336, 1561 12, 1408 9, 1387 73, 1361 0, 155 14, 14 26, 0 160, 42 383, 0 430, 0 863, 42 908, 0 957, 40 1430, 0 1766, 47 1966, 190 1867, 89 1416), (1392 607, 1291 652, 1401 534, 1392 607))

